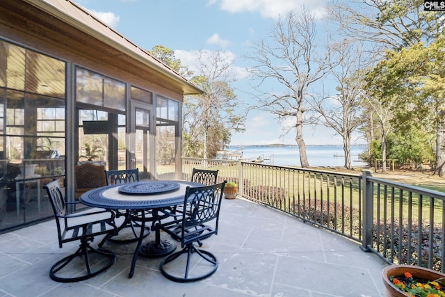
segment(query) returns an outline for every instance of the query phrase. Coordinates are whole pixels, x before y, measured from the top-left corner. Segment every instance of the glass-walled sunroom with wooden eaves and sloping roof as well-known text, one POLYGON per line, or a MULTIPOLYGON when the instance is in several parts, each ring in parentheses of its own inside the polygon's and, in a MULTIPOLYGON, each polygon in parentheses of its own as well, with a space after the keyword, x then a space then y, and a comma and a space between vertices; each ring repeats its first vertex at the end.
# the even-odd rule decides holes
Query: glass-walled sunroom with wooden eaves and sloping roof
POLYGON ((200 88, 72 1, 0 15, 0 232, 51 216, 54 178, 74 200, 79 163, 179 177, 181 103, 200 88))

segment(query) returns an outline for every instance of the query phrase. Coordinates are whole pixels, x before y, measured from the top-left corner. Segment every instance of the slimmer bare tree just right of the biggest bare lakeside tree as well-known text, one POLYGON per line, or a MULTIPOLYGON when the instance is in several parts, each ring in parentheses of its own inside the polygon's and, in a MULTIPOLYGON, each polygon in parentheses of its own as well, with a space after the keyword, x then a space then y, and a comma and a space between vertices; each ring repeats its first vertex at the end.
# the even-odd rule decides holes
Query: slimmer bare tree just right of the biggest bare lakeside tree
POLYGON ((343 139, 344 167, 352 169, 350 145, 353 131, 364 123, 362 102, 364 92, 364 65, 370 61, 362 47, 353 45, 348 40, 332 45, 332 77, 338 86, 337 94, 332 96, 312 97, 309 105, 315 111, 314 122, 334 129, 343 139))

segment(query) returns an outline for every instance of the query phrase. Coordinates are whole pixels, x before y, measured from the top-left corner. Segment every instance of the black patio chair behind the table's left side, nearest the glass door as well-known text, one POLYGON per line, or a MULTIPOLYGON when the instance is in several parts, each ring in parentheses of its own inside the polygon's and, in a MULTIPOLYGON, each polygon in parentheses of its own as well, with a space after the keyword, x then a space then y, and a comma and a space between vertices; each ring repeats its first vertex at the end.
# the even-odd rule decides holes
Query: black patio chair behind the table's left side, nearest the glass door
MULTIPOLYGON (((139 182, 139 169, 127 169, 127 170, 106 170, 106 185, 113 184, 127 184, 130 182, 139 182)), ((131 243, 138 241, 140 232, 136 232, 135 226, 140 226, 139 223, 133 222, 132 217, 138 216, 138 211, 127 209, 126 211, 115 210, 116 218, 124 217, 124 221, 118 227, 117 236, 108 236, 108 240, 114 243, 131 243), (124 228, 131 228, 131 234, 125 234, 126 236, 119 236, 120 232, 124 228)), ((144 237, 150 233, 149 227, 144 232, 144 237)))

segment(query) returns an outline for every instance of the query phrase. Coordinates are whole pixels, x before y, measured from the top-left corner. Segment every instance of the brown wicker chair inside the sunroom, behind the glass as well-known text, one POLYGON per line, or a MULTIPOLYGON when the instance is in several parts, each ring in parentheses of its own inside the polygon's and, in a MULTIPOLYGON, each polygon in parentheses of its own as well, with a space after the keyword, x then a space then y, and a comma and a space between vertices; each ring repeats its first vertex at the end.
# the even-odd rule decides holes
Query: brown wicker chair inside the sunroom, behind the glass
POLYGON ((76 199, 93 188, 106 186, 105 166, 94 163, 77 165, 74 176, 76 179, 76 199))

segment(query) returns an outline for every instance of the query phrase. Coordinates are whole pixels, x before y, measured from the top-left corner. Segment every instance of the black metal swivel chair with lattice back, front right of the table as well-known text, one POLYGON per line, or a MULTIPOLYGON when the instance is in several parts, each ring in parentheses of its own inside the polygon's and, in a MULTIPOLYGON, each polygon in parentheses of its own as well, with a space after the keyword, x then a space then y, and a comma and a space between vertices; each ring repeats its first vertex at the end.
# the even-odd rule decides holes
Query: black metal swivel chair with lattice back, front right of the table
MULTIPOLYGON (((183 214, 170 213, 173 219, 159 225, 161 230, 181 242, 182 250, 165 257, 160 265, 161 273, 169 280, 196 282, 208 278, 218 269, 216 256, 208 250, 197 248, 195 242, 202 246, 202 240, 218 234, 225 183, 188 186, 183 204, 186 211, 183 214), (177 228, 178 225, 181 227, 177 228), (184 257, 186 259, 183 259, 184 257), (202 259, 205 261, 201 261, 202 259), (189 271, 192 265, 193 271, 189 271)), ((166 211, 163 212, 168 214, 166 211)))

